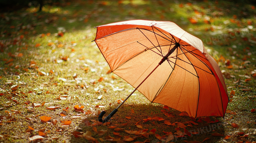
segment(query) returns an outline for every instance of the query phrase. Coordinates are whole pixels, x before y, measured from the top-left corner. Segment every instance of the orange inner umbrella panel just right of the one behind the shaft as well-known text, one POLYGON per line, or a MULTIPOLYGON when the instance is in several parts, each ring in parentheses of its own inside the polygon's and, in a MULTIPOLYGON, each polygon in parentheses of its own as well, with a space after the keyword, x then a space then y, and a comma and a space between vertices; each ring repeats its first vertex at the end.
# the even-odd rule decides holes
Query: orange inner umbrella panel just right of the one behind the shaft
POLYGON ((189 116, 196 116, 199 80, 195 76, 197 75, 195 68, 189 64, 188 58, 182 53, 178 48, 177 57, 180 60, 176 60, 173 72, 153 102, 186 111, 189 116))

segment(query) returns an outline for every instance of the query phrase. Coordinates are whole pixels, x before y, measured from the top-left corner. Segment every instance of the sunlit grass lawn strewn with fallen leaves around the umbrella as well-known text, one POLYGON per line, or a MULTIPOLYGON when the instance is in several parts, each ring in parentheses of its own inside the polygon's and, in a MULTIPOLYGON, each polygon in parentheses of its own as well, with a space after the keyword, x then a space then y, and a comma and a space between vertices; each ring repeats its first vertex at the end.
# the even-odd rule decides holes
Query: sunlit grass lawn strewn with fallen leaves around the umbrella
MULTIPOLYGON (((250 112, 256 108, 256 81, 252 76, 252 72, 256 72, 255 6, 228 1, 78 0, 45 5, 41 12, 36 12, 37 9, 23 8, 0 14, 0 142, 30 142, 28 138, 38 135, 38 131, 46 134, 41 142, 90 142, 75 137, 72 131, 90 131, 91 136, 99 142, 103 142, 100 138, 105 140, 106 136, 115 137, 113 132, 119 132, 122 136, 119 142, 122 142, 124 138, 137 136, 125 132, 140 131, 137 122, 143 129, 148 129, 147 133, 156 129, 156 134, 160 136, 165 135, 163 131, 175 135, 178 122, 188 125, 185 122, 191 120, 189 117, 180 116, 180 112, 173 109, 168 113, 174 117, 167 117, 161 112, 163 105, 150 103, 136 91, 118 109, 110 124, 93 126, 97 120, 96 112, 106 110, 106 114, 109 114, 117 107, 117 100, 126 98, 133 90, 131 85, 116 75, 107 74, 109 66, 96 44, 91 42, 96 34, 93 27, 132 19, 173 21, 203 40, 210 55, 226 73, 228 93, 235 91, 235 97, 228 104, 229 113, 224 118, 211 117, 213 121, 220 120, 218 123, 221 126, 218 123, 197 121, 198 125, 191 124, 186 129, 199 134, 174 138, 173 142, 203 142, 207 137, 209 139, 204 142, 256 140, 256 115, 250 112), (224 59, 221 59, 221 55, 224 59), (11 59, 13 61, 9 61, 11 59), (225 65, 227 60, 230 60, 233 68, 225 65), (78 80, 74 79, 75 74, 78 80), (98 81, 101 77, 103 80, 98 81), (240 81, 234 83, 238 79, 240 81), (12 91, 11 86, 16 84, 17 90, 12 91), (123 90, 114 91, 112 86, 123 90), (250 88, 251 91, 243 91, 244 88, 250 88), (59 96, 64 95, 67 98, 61 100, 59 96), (100 95, 102 98, 97 99, 100 95), (28 105, 25 103, 27 101, 30 101, 28 105), (43 102, 44 106, 32 108, 32 103, 41 105, 43 102), (76 112, 75 105, 84 106, 88 114, 76 112), (59 108, 46 109, 51 106, 59 108), (63 109, 67 110, 66 116, 61 116, 63 109), (132 113, 132 109, 135 113, 132 113), (42 123, 40 116, 52 117, 50 122, 56 119, 57 124, 42 123), (154 116, 164 120, 143 122, 143 119, 154 116), (62 122, 67 120, 71 120, 71 124, 62 126, 62 122), (87 126, 84 120, 92 125, 87 126), (166 125, 164 121, 176 125, 166 125), (127 125, 123 125, 125 123, 127 125), (232 128, 232 123, 236 123, 239 128, 232 128), (26 132, 29 126, 34 130, 26 132), (124 129, 115 131, 109 126, 124 129), (107 133, 99 136, 93 131, 94 127, 97 131, 105 130, 107 133), (243 135, 238 135, 239 132, 249 134, 241 137, 243 135), (224 136, 212 136, 214 133, 224 136), (230 137, 224 139, 227 135, 230 137)), ((138 137, 132 142, 146 139, 152 143, 165 142, 154 134, 148 138, 138 137)))

